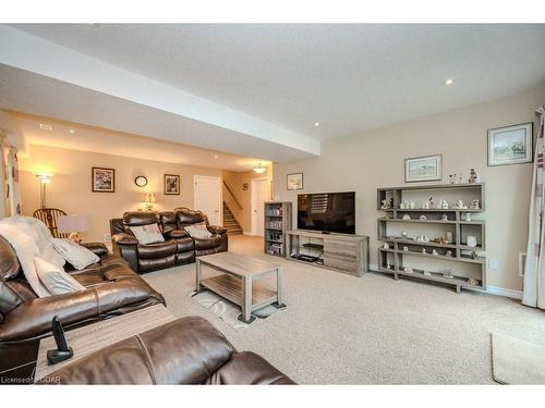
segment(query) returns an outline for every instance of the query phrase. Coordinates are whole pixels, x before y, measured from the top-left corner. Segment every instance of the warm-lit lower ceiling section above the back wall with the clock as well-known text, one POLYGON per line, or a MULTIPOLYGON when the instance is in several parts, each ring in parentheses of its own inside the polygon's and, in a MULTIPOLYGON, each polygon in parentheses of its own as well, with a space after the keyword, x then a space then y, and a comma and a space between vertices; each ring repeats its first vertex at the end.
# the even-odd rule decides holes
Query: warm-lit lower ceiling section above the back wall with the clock
MULTIPOLYGON (((256 164, 270 162, 214 150, 201 149, 149 137, 142 137, 76 123, 39 118, 19 112, 7 112, 23 132, 28 145, 50 146, 63 149, 93 151, 167 163, 217 168, 235 172, 251 171, 256 164), (41 129, 40 124, 51 126, 41 129), (72 133, 70 132, 72 131, 72 133)), ((32 154, 32 146, 27 152, 32 154)))

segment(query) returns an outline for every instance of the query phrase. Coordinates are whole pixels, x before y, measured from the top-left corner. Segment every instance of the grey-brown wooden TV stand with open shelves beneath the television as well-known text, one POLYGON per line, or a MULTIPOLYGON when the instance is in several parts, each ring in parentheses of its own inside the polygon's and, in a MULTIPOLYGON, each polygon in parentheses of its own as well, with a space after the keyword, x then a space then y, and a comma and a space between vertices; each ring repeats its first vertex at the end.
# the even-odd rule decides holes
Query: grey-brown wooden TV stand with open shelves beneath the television
POLYGON ((316 231, 286 232, 286 259, 337 272, 361 276, 368 271, 370 238, 363 235, 323 234, 316 231), (304 261, 296 255, 317 261, 304 261))

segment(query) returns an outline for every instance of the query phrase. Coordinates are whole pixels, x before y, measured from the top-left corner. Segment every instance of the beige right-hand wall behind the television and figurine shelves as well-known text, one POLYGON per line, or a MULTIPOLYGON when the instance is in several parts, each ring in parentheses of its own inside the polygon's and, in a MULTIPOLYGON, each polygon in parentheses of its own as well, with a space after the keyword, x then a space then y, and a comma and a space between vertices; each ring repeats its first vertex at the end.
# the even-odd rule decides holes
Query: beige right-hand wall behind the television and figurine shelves
POLYGON ((543 103, 545 88, 540 88, 326 141, 319 158, 275 164, 275 197, 296 206, 298 193, 286 189, 286 174, 293 172, 304 173, 307 193, 355 190, 356 233, 371 237, 371 263, 376 264, 376 220, 384 217, 376 210, 376 188, 403 185, 403 159, 443 153, 443 183, 451 173, 467 177, 471 168, 486 183, 487 256, 499 262, 488 270, 487 284, 520 290, 518 254, 525 252, 532 164, 487 166, 486 131, 533 121, 536 133, 534 111, 543 103))

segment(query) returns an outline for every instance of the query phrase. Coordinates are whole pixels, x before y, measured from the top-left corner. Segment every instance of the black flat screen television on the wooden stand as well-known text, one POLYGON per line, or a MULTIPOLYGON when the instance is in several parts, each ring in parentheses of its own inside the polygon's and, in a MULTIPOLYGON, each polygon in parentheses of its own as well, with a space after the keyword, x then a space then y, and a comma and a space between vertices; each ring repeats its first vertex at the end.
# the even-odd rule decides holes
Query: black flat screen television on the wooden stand
POLYGON ((355 234, 355 193, 298 195, 298 228, 355 234))

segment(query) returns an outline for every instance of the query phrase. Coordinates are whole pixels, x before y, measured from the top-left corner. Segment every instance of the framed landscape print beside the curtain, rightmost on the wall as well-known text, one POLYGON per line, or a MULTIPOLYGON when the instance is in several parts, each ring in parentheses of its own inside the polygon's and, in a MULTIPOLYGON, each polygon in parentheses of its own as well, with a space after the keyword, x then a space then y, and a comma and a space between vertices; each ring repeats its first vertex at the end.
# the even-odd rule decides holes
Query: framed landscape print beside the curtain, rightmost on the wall
POLYGON ((533 123, 488 131, 488 165, 531 163, 533 123))

